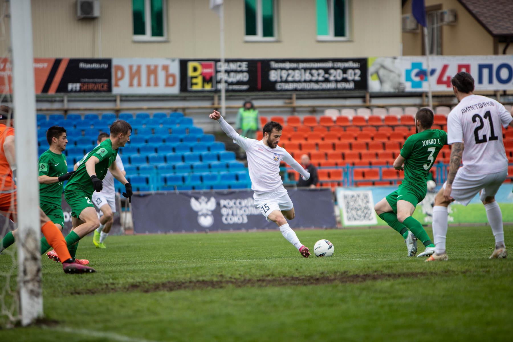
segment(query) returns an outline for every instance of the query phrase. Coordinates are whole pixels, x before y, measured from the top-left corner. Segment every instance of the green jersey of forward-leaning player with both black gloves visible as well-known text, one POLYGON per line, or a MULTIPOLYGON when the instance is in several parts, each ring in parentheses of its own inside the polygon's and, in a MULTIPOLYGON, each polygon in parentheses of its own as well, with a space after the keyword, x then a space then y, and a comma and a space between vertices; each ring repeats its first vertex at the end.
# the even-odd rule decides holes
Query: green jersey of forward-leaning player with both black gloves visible
POLYGON ((100 162, 95 165, 94 172, 96 173, 96 177, 103 179, 109 170, 109 166, 116 160, 117 150, 112 149, 110 139, 96 146, 84 157, 82 164, 80 164, 75 173, 71 175, 66 185, 66 191, 80 191, 92 195, 94 192, 93 183, 91 182, 91 176, 89 176, 86 170, 87 160, 89 160, 91 156, 95 156, 100 160, 100 162))

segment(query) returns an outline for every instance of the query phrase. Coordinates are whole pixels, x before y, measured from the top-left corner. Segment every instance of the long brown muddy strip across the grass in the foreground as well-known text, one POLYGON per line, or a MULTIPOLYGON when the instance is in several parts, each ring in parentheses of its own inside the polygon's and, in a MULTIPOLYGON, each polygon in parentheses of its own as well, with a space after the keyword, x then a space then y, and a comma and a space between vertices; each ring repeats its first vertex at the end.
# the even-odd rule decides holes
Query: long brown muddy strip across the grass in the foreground
POLYGON ((374 274, 331 274, 326 276, 301 276, 301 277, 267 277, 253 279, 223 279, 223 280, 189 280, 189 281, 165 281, 164 283, 135 283, 128 287, 115 287, 106 284, 103 288, 77 289, 71 294, 101 294, 111 292, 156 292, 178 290, 202 290, 222 289, 226 287, 281 287, 281 286, 308 286, 326 284, 358 284, 364 281, 393 280, 400 278, 416 278, 426 276, 428 273, 374 273, 374 274))

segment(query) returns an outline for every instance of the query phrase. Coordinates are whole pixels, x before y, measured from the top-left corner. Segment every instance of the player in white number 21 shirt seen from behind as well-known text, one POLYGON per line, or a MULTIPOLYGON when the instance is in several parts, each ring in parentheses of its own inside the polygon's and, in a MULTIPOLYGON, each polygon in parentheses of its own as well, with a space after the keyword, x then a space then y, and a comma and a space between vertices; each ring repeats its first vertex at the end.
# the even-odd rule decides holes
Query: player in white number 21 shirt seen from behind
POLYGON ((502 128, 513 126, 513 117, 496 100, 474 95, 474 79, 459 72, 451 79, 459 100, 447 118, 447 144, 452 145, 449 173, 433 207, 435 254, 426 261, 447 260, 447 206, 457 200, 466 206, 480 193, 486 216, 495 236, 491 258, 507 256, 502 227, 502 213, 495 194, 508 174, 508 159, 502 141, 502 128), (463 162, 463 167, 460 164, 463 162))

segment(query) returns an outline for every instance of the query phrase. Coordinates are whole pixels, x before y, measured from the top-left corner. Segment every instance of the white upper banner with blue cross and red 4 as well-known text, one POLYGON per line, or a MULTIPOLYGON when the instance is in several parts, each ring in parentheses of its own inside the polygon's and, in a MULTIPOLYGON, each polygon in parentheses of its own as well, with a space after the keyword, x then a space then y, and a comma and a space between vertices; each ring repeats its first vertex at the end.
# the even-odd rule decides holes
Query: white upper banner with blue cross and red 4
POLYGON ((451 78, 470 73, 476 90, 513 89, 513 55, 369 57, 370 92, 452 92, 451 78))

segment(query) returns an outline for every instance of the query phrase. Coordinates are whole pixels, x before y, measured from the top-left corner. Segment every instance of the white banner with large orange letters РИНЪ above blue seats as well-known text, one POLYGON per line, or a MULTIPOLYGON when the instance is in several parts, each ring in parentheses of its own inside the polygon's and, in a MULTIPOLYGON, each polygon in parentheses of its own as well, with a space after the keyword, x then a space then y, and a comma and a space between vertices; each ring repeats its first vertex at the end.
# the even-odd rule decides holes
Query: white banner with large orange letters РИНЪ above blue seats
POLYGON ((112 93, 177 94, 180 62, 170 58, 113 58, 112 93))

